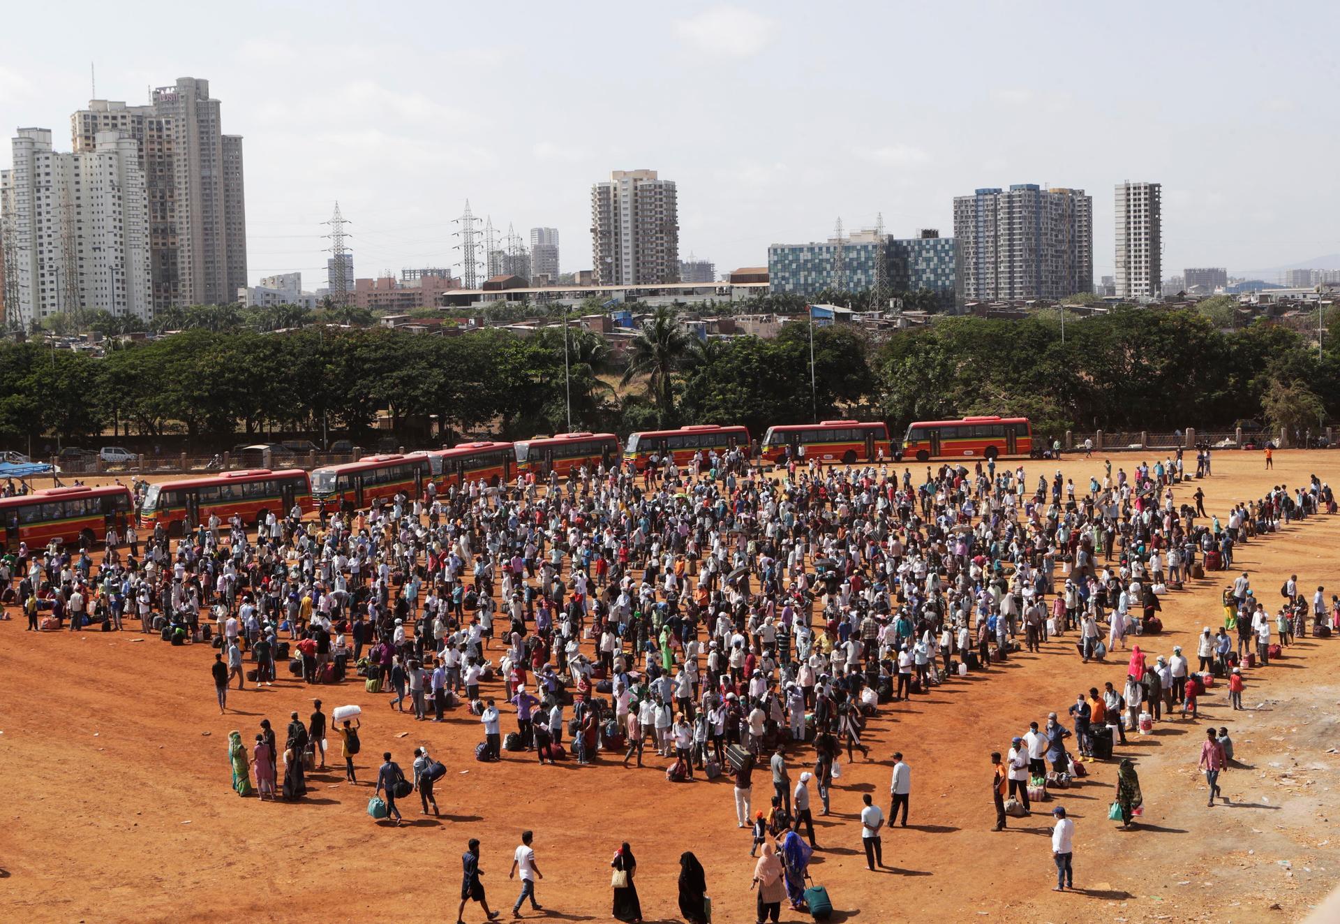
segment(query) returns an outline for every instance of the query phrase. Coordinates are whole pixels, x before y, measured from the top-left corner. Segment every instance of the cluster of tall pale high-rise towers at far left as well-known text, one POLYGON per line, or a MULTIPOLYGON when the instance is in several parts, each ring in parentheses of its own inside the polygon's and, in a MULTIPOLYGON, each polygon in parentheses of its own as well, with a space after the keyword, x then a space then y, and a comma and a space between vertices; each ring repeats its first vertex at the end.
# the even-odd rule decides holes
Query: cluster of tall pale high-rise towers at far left
POLYGON ((248 282, 243 139, 224 134, 220 110, 209 80, 185 76, 145 106, 90 99, 70 115, 70 153, 55 150, 50 129, 17 130, 0 201, 0 263, 15 276, 3 287, 7 326, 40 321, 58 302, 147 319, 237 298, 248 282), (40 176, 29 173, 35 157, 40 176))

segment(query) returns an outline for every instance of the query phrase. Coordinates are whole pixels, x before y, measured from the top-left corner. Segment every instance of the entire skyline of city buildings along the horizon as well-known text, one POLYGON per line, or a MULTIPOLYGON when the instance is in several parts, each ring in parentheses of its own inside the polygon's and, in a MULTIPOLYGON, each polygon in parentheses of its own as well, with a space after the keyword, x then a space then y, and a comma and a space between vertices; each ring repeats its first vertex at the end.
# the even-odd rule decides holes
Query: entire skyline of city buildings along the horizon
MULTIPOLYGON (((307 296, 319 299, 335 288, 334 257, 326 260, 330 288, 316 294, 304 294, 300 283, 292 284, 288 280, 292 274, 267 276, 260 286, 251 287, 257 291, 245 284, 230 287, 247 279, 241 138, 222 133, 221 103, 209 95, 208 80, 181 78, 151 95, 153 102, 147 106, 92 99, 87 109, 71 114, 74 150, 56 157, 75 158, 68 161, 71 165, 83 164, 84 156, 87 164, 102 158, 102 168, 64 168, 66 178, 54 184, 46 198, 38 198, 46 192, 15 188, 0 200, 9 204, 13 212, 9 220, 15 224, 5 243, 5 259, 0 260, 0 278, 9 253, 15 249, 21 253, 15 262, 16 279, 0 286, 0 295, 25 291, 29 278, 38 282, 38 303, 31 304, 31 295, 28 304, 17 296, 16 310, 7 316, 9 323, 19 318, 31 322, 34 316, 48 316, 56 306, 66 311, 106 307, 114 314, 129 312, 147 319, 166 306, 230 300, 268 304, 281 292, 295 292, 300 303, 306 303, 307 296), (86 204, 82 192, 71 192, 76 177, 80 190, 92 189, 88 184, 96 181, 99 194, 115 201, 115 216, 95 215, 92 200, 86 204), (145 211, 133 201, 137 188, 142 190, 145 211), (34 215, 34 209, 48 200, 58 203, 51 219, 62 231, 62 241, 43 239, 42 253, 38 253, 42 267, 35 271, 36 276, 32 276, 32 259, 24 251, 24 247, 31 249, 31 244, 20 247, 19 197, 35 204, 29 208, 34 215), (83 217, 80 211, 86 212, 83 217), (80 244, 82 239, 98 243, 80 244), (66 241, 72 243, 66 247, 66 241), (143 266, 150 272, 147 290, 142 284, 143 266)), ((843 282, 850 291, 870 288, 878 263, 884 270, 883 284, 890 294, 930 288, 945 294, 946 307, 954 302, 1061 299, 1091 291, 1146 302, 1178 291, 1213 294, 1226 287, 1223 268, 1193 268, 1185 276, 1163 278, 1162 184, 1122 182, 1114 189, 1116 270, 1097 284, 1092 276, 1092 197, 1083 189, 1036 184, 980 188, 972 196, 954 197, 953 237, 926 232, 911 239, 884 235, 876 240, 875 232, 868 229, 844 237, 843 282)), ((595 267, 590 272, 595 284, 716 280, 716 266, 710 260, 695 259, 691 253, 687 260, 678 259, 678 188, 674 181, 662 180, 657 170, 612 170, 608 181, 592 184, 591 221, 595 267)), ((5 236, 5 228, 0 224, 0 237, 5 236)), ((31 224, 27 240, 38 240, 31 224)), ((507 235, 497 239, 500 245, 484 255, 481 263, 489 270, 486 278, 517 276, 531 286, 556 284, 559 229, 531 228, 529 248, 525 241, 509 227, 507 235)), ((816 294, 835 287, 835 239, 829 239, 827 243, 770 245, 772 291, 816 294)), ((367 283, 363 300, 368 304, 403 307, 411 298, 403 292, 414 298, 427 295, 417 279, 387 283, 383 276, 389 274, 363 280, 367 283), (385 295, 389 291, 402 294, 385 295)), ((352 300, 360 282, 355 278, 352 252, 344 253, 343 279, 352 300)), ((1340 271, 1286 270, 1280 271, 1280 282, 1305 288, 1340 282, 1340 271)), ((427 288, 442 288, 442 283, 429 283, 427 288)))

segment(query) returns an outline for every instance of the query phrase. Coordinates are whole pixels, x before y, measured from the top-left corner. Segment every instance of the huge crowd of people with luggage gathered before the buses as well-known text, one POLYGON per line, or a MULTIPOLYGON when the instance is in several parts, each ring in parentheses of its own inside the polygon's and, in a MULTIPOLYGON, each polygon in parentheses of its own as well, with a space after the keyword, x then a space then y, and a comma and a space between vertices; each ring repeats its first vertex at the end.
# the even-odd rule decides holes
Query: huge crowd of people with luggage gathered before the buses
MULTIPOLYGON (((1202 473, 1209 455, 1198 453, 1202 473)), ((779 888, 793 908, 807 907, 808 858, 819 849, 809 783, 828 814, 842 758, 867 754, 864 726, 882 705, 1068 633, 1085 661, 1130 645, 1124 681, 1069 707, 1077 756, 1056 713, 1014 739, 1008 763, 992 755, 1000 829, 1008 801, 1026 814, 1030 789, 1055 786, 1096 748, 1110 756, 1114 731, 1124 740, 1178 705, 1194 717, 1205 675, 1233 676, 1241 692, 1241 668, 1268 662, 1273 649, 1249 575, 1225 590, 1223 626, 1198 641, 1199 671, 1181 646, 1147 661, 1142 644, 1162 629, 1160 598, 1230 567, 1235 547, 1281 523, 1333 512, 1335 499, 1312 477, 1221 520, 1205 512, 1201 491, 1194 504, 1175 503, 1182 479, 1181 452, 1130 473, 1107 461, 1087 488, 1060 469, 1032 480, 996 460, 914 473, 791 459, 768 476, 738 451, 701 453, 686 469, 663 460, 430 485, 423 498, 319 519, 295 508, 255 532, 239 518, 209 518, 180 539, 159 526, 142 554, 138 536, 129 553, 109 542, 96 566, 90 550, 21 547, 0 561, 0 586, 34 629, 40 609, 72 629, 119 630, 138 617, 141 632, 174 644, 209 640, 220 648, 212 673, 221 712, 234 677, 259 687, 281 669, 312 685, 356 675, 423 721, 470 709, 484 730, 481 760, 504 751, 560 760, 571 740, 582 764, 606 751, 642 766, 650 748, 674 759, 671 781, 729 774, 737 826, 761 852, 760 920, 776 920, 779 888), (492 683, 498 695, 481 695, 492 683), (505 736, 500 703, 516 723, 505 736), (796 763, 807 768, 792 783, 796 763), (756 771, 772 783, 757 803, 756 771)), ((1328 609, 1323 590, 1309 603, 1296 578, 1286 582, 1281 644, 1302 634, 1309 616, 1315 632, 1340 628, 1340 599, 1328 609)), ((354 781, 356 726, 335 731, 354 781)), ((302 798, 304 774, 324 766, 326 738, 319 700, 307 723, 292 713, 284 748, 268 720, 249 754, 232 732, 234 789, 251 791, 251 770, 261 798, 302 798)), ((907 764, 898 758, 888 822, 900 810, 906 825, 907 764)), ((425 813, 436 810, 433 763, 415 754, 406 778, 386 755, 377 795, 394 822, 402 785, 421 791, 425 813)), ((1134 772, 1123 762, 1114 801, 1126 825, 1139 807, 1134 772)), ((883 819, 870 807, 863 829, 875 831, 875 868, 883 819)), ((628 881, 622 900, 615 890, 616 916, 635 920, 627 845, 612 865, 628 881)), ((470 886, 462 900, 466 890, 473 897, 470 886)))

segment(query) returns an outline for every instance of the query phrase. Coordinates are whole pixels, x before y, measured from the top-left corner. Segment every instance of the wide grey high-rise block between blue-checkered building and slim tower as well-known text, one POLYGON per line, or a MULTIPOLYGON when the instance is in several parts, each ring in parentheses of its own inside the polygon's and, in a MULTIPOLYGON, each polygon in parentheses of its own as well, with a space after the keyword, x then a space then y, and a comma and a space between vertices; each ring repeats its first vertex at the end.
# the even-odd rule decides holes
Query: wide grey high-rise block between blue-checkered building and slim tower
POLYGON ((1014 184, 954 197, 955 298, 1061 299, 1093 290, 1093 200, 1014 184))

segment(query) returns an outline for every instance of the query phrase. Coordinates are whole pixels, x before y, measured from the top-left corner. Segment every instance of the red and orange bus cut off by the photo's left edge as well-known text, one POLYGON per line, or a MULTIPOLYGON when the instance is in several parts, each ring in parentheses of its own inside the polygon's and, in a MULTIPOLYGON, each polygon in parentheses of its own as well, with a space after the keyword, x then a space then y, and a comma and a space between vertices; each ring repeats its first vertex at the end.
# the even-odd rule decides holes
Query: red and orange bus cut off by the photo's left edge
POLYGON ((20 542, 40 548, 52 539, 78 542, 84 548, 100 542, 107 527, 125 528, 130 518, 130 488, 47 488, 13 498, 0 498, 0 550, 20 542))

